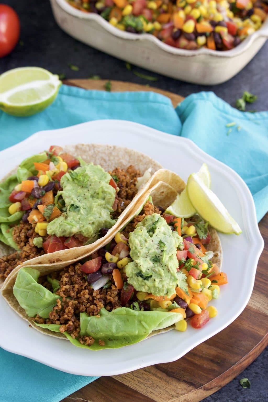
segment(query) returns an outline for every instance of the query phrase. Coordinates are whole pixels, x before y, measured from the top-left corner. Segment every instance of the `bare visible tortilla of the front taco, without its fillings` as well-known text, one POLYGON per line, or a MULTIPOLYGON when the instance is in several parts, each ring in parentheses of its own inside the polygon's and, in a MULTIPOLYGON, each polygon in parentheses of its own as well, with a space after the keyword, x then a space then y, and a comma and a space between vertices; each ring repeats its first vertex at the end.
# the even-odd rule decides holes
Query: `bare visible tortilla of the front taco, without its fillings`
MULTIPOLYGON (((160 172, 160 171, 158 171, 160 172)), ((101 244, 94 244, 93 249, 90 252, 87 252, 86 254, 83 254, 82 256, 80 256, 80 258, 76 258, 74 260, 70 260, 70 261, 65 261, 65 262, 61 262, 61 263, 57 263, 57 264, 49 264, 49 265, 35 265, 35 264, 31 264, 33 260, 31 260, 27 267, 31 267, 33 269, 38 269, 42 275, 48 275, 49 273, 53 272, 53 271, 59 271, 61 269, 63 269, 64 267, 67 267, 68 265, 72 265, 74 263, 76 263, 79 259, 85 258, 87 256, 89 256, 90 254, 92 254, 92 252, 94 252, 95 250, 98 250, 98 248, 105 246, 107 243, 109 243, 113 237, 115 236, 115 233, 117 231, 122 230, 128 222, 130 222, 136 215, 139 214, 139 212, 141 211, 144 203, 146 202, 147 198, 149 197, 149 195, 151 195, 152 200, 154 205, 159 205, 159 206, 163 206, 165 205, 165 208, 168 207, 169 205, 171 205, 171 203, 174 201, 174 199, 176 199, 176 196, 178 194, 178 192, 171 186, 172 184, 172 178, 175 178, 175 185, 176 188, 178 188, 178 183, 180 182, 180 178, 176 178, 175 173, 170 172, 168 174, 168 178, 169 178, 169 183, 165 183, 165 182, 157 182, 157 180, 151 180, 151 182, 156 183, 153 185, 153 187, 151 187, 150 189, 147 189, 147 191, 145 191, 143 193, 143 196, 141 196, 141 199, 139 200, 140 203, 139 205, 136 205, 135 208, 133 208, 130 212, 129 212, 129 216, 127 218, 126 221, 121 222, 121 225, 118 226, 117 228, 114 227, 114 231, 111 232, 110 234, 108 234, 108 236, 106 238, 102 238, 102 243, 101 244), (172 174, 171 174, 172 173, 172 174)), ((160 177, 162 176, 162 172, 160 172, 160 177)), ((181 187, 183 187, 183 184, 181 183, 181 187)), ((185 183, 184 183, 184 187, 185 187, 185 183)), ((183 188, 181 188, 180 191, 182 191, 183 188)), ((164 207, 164 206, 163 206, 164 207)), ((221 248, 221 241, 219 239, 219 236, 216 232, 215 229, 213 228, 209 228, 210 234, 211 234, 211 242, 208 246, 208 250, 212 250, 214 252, 214 256, 212 258, 213 263, 217 264, 220 271, 221 271, 221 265, 222 265, 222 248, 221 248)), ((26 265, 24 265, 26 266, 26 265)), ((18 266, 16 267, 16 269, 14 269, 10 275, 6 278, 6 281, 4 282, 4 285, 2 287, 2 296, 4 297, 4 299, 7 301, 7 303, 10 305, 10 307, 16 311, 18 313, 18 315, 20 317, 22 317, 24 320, 27 320, 28 322, 31 323, 31 326, 33 326, 33 328, 35 328, 36 330, 38 330, 39 332, 43 332, 43 334, 49 335, 49 336, 55 336, 57 338, 62 338, 62 339, 66 339, 67 338, 58 332, 52 332, 50 330, 48 330, 47 328, 41 328, 39 326, 36 326, 33 321, 27 316, 27 314, 25 313, 25 310, 23 308, 20 307, 20 305, 18 304, 18 301, 16 300, 16 297, 13 294, 13 286, 16 280, 16 276, 18 274, 18 270, 21 267, 18 266)), ((172 329, 175 328, 175 325, 169 326, 167 328, 163 328, 160 330, 156 330, 151 332, 151 334, 149 334, 147 336, 147 338, 150 338, 151 336, 154 335, 158 335, 158 334, 162 334, 164 332, 170 331, 172 329)), ((146 338, 146 339, 147 339, 146 338)))

